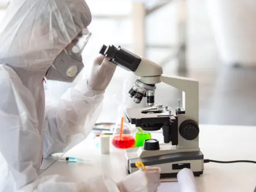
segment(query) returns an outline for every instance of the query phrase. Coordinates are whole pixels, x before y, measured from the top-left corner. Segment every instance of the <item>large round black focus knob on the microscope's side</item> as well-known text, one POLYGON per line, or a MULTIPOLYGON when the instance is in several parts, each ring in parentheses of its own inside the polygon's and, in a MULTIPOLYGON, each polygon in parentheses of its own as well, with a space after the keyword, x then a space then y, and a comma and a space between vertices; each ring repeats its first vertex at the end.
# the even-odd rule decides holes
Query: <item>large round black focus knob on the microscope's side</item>
POLYGON ((199 127, 193 120, 186 120, 180 124, 180 135, 186 140, 193 140, 199 135, 199 127))

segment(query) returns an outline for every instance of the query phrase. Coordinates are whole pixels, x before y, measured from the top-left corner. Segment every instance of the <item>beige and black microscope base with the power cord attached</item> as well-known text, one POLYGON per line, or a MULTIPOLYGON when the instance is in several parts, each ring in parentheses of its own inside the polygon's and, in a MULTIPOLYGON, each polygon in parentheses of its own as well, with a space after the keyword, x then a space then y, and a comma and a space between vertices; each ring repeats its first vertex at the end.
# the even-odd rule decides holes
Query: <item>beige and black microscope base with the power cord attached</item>
POLYGON ((138 169, 135 163, 142 161, 145 166, 156 166, 161 168, 161 178, 176 177, 179 171, 183 168, 189 168, 193 171, 195 176, 203 174, 204 170, 204 155, 201 151, 189 151, 189 152, 176 152, 165 155, 152 156, 129 159, 127 151, 126 157, 126 169, 129 173, 134 173, 138 169))

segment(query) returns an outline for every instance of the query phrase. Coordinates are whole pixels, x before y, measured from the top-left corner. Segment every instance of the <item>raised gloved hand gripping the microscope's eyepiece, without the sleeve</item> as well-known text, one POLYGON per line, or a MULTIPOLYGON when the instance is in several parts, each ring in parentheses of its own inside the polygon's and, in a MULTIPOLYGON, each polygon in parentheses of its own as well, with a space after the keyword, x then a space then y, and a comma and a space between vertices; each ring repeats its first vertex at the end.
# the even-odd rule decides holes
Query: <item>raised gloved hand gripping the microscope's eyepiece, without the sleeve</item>
POLYGON ((91 75, 88 78, 88 85, 92 90, 105 90, 109 85, 116 70, 116 65, 108 58, 101 55, 93 62, 91 75))

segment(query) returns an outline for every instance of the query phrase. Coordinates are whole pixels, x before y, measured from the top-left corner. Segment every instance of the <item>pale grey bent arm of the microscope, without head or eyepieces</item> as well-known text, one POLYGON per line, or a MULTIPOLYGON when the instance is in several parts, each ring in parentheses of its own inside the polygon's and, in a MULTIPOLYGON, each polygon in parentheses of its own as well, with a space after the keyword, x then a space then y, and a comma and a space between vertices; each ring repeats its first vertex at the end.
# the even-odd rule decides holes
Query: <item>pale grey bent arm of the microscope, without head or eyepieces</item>
POLYGON ((189 119, 199 121, 199 82, 191 78, 161 75, 160 81, 183 91, 183 108, 189 119))

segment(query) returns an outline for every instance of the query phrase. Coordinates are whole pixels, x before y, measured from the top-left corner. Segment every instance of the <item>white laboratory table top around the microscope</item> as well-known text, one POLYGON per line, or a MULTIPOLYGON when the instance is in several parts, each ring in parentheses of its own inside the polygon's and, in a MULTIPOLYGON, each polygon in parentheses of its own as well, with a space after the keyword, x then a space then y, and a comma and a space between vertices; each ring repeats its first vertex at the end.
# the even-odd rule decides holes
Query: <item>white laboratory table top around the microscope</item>
MULTIPOLYGON (((159 132, 155 133, 156 137, 157 134, 160 135, 159 132)), ((199 145, 205 159, 255 161, 256 127, 200 125, 199 145)), ((124 153, 125 150, 116 149, 111 144, 110 154, 103 155, 100 153, 97 140, 88 137, 64 154, 88 161, 78 164, 50 161, 50 166, 45 168, 41 175, 61 174, 86 180, 91 176, 105 173, 119 181, 127 175, 124 153)), ((195 180, 200 192, 253 192, 256 186, 256 164, 206 163, 204 174, 195 180)))

